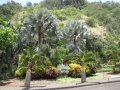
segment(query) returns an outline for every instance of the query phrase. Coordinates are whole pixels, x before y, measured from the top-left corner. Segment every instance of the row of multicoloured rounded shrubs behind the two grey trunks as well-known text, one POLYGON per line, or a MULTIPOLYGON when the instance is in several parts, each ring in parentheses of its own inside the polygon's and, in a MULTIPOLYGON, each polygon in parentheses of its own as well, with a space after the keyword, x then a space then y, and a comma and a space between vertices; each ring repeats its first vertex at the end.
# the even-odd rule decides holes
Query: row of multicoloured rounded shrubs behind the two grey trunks
MULTIPOLYGON (((84 66, 86 75, 96 73, 94 65, 84 66)), ((54 66, 38 66, 34 65, 31 70, 32 79, 40 78, 57 78, 59 75, 68 75, 70 77, 81 77, 82 66, 79 64, 71 63, 69 65, 61 64, 57 68, 54 66)), ((15 72, 15 76, 19 78, 25 78, 27 67, 20 67, 15 72)))

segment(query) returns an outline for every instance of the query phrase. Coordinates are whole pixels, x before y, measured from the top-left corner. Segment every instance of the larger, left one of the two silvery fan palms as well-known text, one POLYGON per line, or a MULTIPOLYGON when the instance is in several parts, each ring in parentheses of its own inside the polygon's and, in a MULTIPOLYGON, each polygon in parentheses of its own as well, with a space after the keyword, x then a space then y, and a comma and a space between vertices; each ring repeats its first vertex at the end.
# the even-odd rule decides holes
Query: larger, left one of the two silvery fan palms
POLYGON ((46 8, 39 8, 31 12, 23 21, 24 27, 21 31, 24 33, 23 41, 34 42, 36 51, 42 50, 42 45, 55 47, 58 23, 56 17, 46 8))

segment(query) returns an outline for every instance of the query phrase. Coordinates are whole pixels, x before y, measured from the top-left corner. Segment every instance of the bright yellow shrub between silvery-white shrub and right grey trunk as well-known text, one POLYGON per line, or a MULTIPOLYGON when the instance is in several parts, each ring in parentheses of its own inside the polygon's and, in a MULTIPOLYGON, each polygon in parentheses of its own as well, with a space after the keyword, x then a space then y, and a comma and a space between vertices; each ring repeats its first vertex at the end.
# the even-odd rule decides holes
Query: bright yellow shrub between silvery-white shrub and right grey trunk
POLYGON ((69 64, 69 76, 70 77, 81 77, 82 67, 79 64, 69 64))

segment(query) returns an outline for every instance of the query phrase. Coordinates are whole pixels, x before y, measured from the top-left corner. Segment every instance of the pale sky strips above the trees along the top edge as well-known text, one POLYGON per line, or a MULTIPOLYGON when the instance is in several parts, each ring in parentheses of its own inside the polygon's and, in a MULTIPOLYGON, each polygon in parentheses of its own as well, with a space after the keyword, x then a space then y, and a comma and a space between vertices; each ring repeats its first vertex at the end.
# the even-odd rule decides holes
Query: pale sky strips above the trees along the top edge
MULTIPOLYGON (((4 4, 4 3, 7 3, 8 1, 11 1, 11 0, 0 0, 0 5, 4 4)), ((39 3, 43 0, 14 0, 15 2, 18 2, 18 3, 21 3, 23 6, 26 5, 26 3, 28 1, 32 2, 32 3, 39 3)), ((94 2, 94 1, 100 1, 100 0, 87 0, 88 2, 94 2)), ((119 2, 120 3, 120 0, 101 0, 102 2, 106 2, 106 1, 114 1, 114 2, 119 2)))

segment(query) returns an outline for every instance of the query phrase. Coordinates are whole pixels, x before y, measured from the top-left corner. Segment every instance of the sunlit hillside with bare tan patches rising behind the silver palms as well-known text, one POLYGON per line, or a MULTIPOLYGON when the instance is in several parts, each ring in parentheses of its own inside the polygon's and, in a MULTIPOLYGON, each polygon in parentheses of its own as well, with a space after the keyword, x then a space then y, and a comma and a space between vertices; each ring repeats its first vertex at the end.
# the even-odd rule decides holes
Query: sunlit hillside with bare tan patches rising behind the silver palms
POLYGON ((67 20, 76 19, 85 23, 88 30, 94 36, 102 39, 107 36, 108 39, 110 35, 114 41, 118 42, 120 40, 120 25, 118 24, 120 22, 120 12, 118 12, 120 11, 120 4, 115 2, 87 3, 81 7, 74 7, 74 5, 60 5, 60 7, 58 7, 57 4, 50 6, 48 3, 41 3, 36 6, 23 7, 20 12, 16 13, 11 18, 11 22, 17 26, 22 23, 23 19, 32 10, 43 7, 48 8, 50 12, 56 15, 60 27, 63 27, 63 24, 67 20))

